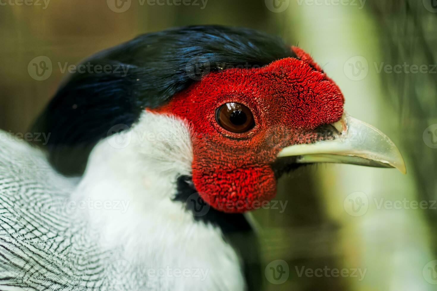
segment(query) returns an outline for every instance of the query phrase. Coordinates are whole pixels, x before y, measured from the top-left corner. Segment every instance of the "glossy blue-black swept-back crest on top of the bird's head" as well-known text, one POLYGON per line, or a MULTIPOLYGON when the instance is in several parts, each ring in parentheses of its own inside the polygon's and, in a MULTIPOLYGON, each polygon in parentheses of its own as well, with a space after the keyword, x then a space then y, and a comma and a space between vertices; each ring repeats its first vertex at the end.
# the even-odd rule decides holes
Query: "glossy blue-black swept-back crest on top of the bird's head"
POLYGON ((191 26, 143 34, 84 61, 109 64, 113 71, 123 66, 127 74, 72 74, 31 132, 50 133, 51 163, 63 174, 80 175, 92 147, 114 125, 131 126, 144 108, 166 103, 208 72, 285 57, 296 55, 280 38, 247 28, 191 26))

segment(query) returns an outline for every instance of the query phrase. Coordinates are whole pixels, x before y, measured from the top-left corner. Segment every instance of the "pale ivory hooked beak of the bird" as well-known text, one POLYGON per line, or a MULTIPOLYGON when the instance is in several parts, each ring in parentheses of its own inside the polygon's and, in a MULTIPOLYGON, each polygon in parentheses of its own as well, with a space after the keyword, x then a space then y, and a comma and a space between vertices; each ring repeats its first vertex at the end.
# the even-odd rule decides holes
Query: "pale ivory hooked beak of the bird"
POLYGON ((370 124, 347 113, 331 124, 334 139, 284 147, 278 157, 295 156, 295 163, 344 163, 379 168, 397 168, 406 174, 405 163, 395 144, 370 124))

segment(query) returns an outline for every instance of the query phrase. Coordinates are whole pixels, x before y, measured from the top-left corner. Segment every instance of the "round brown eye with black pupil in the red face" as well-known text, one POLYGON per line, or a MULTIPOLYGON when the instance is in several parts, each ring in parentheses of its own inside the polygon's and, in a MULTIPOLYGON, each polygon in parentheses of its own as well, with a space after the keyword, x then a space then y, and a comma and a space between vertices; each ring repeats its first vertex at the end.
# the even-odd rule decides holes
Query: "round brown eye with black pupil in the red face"
POLYGON ((255 126, 250 109, 240 103, 226 103, 215 112, 217 123, 225 130, 242 133, 255 126))

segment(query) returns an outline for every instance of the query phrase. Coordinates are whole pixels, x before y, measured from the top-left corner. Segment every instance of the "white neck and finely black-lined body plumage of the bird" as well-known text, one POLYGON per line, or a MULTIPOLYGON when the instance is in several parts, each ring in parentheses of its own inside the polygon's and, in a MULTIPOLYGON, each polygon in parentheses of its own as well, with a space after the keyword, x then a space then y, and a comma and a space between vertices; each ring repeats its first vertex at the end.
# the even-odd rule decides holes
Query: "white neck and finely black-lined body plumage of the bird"
POLYGON ((142 113, 97 144, 80 181, 28 144, 2 140, 2 290, 244 289, 221 230, 172 200, 191 169, 182 121, 142 113))

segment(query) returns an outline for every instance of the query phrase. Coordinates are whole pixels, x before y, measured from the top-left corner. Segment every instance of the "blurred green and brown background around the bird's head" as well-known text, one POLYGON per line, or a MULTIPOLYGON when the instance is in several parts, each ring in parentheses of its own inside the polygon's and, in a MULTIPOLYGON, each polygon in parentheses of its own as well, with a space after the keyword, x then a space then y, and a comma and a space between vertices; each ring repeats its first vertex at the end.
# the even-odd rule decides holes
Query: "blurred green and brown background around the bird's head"
POLYGON ((324 164, 281 178, 284 212, 254 212, 263 273, 272 264, 288 269, 280 280, 266 273, 264 290, 437 290, 436 0, 119 2, 127 10, 114 0, 26 3, 0 0, 0 128, 12 133, 26 132, 66 77, 58 63, 77 64, 141 33, 245 26, 309 52, 342 89, 346 110, 395 141, 408 174, 324 164), (41 81, 28 72, 38 56, 53 65, 41 81), (415 73, 412 65, 425 67, 415 73))

